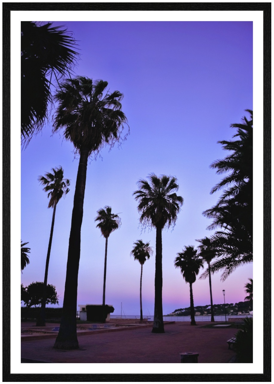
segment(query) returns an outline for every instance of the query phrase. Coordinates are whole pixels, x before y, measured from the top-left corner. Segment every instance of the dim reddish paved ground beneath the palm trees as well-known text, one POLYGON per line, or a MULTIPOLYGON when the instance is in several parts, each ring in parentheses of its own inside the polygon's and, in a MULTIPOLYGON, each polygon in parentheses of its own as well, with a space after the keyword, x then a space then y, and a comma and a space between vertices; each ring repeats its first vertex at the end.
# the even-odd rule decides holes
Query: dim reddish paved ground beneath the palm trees
MULTIPOLYGON (((54 338, 25 337, 21 339, 21 358, 52 363, 180 363, 180 353, 197 352, 198 363, 231 361, 235 353, 228 349, 226 341, 236 329, 204 328, 206 324, 210 323, 165 324, 164 334, 151 333, 152 324, 146 328, 82 334, 78 337, 80 349, 72 351, 53 349, 54 338)), ((22 323, 22 327, 32 325, 35 324, 22 323)))

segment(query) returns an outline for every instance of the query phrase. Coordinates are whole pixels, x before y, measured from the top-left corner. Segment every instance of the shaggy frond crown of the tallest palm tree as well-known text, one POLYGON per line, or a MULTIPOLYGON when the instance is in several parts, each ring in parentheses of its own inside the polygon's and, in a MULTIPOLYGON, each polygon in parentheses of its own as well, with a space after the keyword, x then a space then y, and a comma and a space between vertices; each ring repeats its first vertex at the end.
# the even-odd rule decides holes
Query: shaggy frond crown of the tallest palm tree
POLYGON ((125 125, 125 114, 121 111, 120 101, 123 94, 119 91, 105 92, 108 83, 78 76, 67 79, 55 94, 58 102, 53 132, 63 128, 66 140, 73 142, 75 151, 86 148, 95 156, 108 145, 121 143, 125 125))

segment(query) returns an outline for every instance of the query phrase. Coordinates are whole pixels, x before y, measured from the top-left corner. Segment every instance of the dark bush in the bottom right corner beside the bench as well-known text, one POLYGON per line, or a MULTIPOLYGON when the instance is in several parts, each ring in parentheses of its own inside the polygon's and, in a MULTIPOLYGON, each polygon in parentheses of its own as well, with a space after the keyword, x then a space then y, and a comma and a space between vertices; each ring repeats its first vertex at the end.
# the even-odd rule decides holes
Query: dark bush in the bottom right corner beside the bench
POLYGON ((253 319, 246 317, 241 331, 236 333, 234 349, 237 362, 253 362, 253 319))

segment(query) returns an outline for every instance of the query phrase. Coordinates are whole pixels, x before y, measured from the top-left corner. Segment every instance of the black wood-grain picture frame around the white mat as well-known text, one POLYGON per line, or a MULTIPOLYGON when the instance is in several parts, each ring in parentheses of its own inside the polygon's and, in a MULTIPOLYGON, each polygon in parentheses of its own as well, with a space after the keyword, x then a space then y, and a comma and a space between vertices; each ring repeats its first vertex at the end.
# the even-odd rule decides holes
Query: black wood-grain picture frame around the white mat
POLYGON ((69 3, 70 10, 239 10, 264 18, 264 373, 10 374, 10 11, 67 10, 68 3, 2 3, 3 12, 3 381, 4 382, 270 382, 271 381, 271 3, 69 3))

